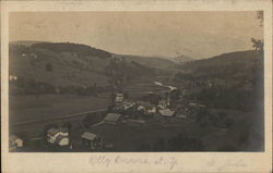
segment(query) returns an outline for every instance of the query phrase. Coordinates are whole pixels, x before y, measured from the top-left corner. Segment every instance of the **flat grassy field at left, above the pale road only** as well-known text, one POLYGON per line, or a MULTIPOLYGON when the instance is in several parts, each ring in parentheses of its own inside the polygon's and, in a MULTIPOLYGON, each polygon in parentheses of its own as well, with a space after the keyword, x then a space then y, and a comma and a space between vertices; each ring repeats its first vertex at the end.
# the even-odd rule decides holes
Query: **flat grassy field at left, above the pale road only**
POLYGON ((10 123, 39 119, 50 119, 56 115, 66 115, 107 108, 109 97, 92 96, 11 96, 10 123))

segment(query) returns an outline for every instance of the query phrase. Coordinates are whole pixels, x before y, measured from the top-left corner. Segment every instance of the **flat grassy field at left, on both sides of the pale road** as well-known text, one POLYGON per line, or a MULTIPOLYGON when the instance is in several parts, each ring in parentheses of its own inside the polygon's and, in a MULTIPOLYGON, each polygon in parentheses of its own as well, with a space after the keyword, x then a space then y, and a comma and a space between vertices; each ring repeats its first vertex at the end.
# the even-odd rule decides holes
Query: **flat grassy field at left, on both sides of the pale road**
POLYGON ((109 97, 45 95, 37 98, 35 96, 12 96, 10 97, 10 134, 17 134, 25 136, 25 138, 40 137, 46 124, 63 121, 76 122, 76 120, 82 120, 85 114, 64 120, 50 119, 97 109, 107 109, 109 104, 109 97), (41 121, 47 119, 49 121, 41 121), (29 121, 37 122, 13 125, 29 121))

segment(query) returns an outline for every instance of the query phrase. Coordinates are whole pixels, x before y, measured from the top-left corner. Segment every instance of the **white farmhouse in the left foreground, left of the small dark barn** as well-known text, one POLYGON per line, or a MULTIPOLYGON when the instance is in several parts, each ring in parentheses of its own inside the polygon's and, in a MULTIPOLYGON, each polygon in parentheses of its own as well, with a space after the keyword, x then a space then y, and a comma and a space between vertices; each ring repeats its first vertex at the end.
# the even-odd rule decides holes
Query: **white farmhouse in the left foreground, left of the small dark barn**
POLYGON ((47 131, 47 141, 58 146, 69 145, 69 131, 68 128, 51 127, 47 131))

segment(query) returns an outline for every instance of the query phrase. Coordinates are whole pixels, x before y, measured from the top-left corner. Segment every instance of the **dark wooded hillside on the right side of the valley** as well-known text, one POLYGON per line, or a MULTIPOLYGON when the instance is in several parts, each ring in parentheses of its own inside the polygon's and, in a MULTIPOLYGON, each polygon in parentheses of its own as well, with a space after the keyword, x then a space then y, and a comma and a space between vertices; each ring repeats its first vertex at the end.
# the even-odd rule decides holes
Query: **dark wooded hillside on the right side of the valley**
POLYGON ((239 51, 188 62, 174 81, 200 102, 225 109, 260 110, 263 102, 263 57, 239 51))

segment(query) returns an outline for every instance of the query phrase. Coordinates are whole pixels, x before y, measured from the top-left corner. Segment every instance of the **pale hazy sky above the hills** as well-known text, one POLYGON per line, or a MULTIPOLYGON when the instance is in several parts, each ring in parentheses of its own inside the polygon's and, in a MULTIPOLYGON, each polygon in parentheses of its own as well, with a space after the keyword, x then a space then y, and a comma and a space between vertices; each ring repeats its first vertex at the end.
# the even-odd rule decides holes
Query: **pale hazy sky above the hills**
POLYGON ((263 38, 252 12, 12 12, 10 41, 85 44, 114 53, 210 58, 263 38))

